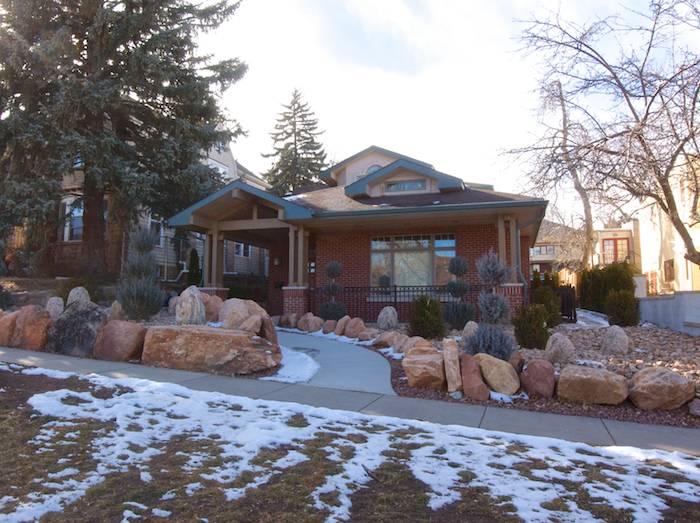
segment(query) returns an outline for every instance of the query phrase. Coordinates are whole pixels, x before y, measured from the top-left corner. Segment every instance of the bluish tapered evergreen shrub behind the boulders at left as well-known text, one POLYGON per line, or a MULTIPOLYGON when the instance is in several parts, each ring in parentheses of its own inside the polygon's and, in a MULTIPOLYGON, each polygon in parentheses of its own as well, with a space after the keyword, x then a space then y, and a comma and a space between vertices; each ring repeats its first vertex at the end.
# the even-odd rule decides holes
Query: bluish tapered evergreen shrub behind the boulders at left
POLYGON ((131 252, 117 293, 119 303, 130 319, 148 319, 165 303, 165 293, 158 286, 158 263, 153 254, 155 244, 155 237, 146 229, 138 230, 131 237, 131 252))

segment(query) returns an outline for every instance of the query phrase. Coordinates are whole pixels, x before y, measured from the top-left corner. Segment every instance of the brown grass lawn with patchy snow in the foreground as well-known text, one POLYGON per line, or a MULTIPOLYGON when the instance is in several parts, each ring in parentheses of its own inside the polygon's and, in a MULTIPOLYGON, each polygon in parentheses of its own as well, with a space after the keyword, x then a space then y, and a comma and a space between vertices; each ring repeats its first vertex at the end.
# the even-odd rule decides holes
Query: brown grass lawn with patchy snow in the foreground
POLYGON ((700 520, 691 456, 0 365, 0 520, 700 520))

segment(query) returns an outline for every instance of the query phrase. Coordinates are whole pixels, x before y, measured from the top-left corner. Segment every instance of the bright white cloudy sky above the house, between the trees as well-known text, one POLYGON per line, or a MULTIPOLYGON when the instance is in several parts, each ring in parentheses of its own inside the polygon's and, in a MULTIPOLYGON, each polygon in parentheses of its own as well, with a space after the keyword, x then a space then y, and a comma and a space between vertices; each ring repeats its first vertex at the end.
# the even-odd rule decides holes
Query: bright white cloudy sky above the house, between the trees
POLYGON ((537 60, 519 20, 560 11, 584 22, 615 14, 604 0, 243 0, 201 38, 245 77, 222 97, 245 129, 234 156, 256 173, 292 90, 319 119, 331 161, 379 145, 497 190, 525 188, 526 166, 504 151, 541 134, 537 60))

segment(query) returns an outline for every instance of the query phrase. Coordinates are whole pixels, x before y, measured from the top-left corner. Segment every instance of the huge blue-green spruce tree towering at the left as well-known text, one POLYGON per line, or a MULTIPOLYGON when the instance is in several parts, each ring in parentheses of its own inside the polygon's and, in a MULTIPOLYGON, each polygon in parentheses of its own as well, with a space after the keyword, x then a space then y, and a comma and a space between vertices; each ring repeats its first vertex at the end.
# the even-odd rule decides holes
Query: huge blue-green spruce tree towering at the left
POLYGON ((0 0, 0 235, 49 217, 82 171, 85 269, 104 272, 105 195, 123 220, 218 187, 202 163, 240 133, 217 95, 246 66, 197 52, 238 2, 0 0))

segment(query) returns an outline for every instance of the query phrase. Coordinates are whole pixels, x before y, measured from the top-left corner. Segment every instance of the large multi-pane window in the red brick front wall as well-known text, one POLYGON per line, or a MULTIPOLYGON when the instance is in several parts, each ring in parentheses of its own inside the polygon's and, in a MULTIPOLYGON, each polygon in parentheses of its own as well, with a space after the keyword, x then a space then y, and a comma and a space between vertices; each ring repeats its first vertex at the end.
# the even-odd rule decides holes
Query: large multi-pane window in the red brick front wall
POLYGON ((372 285, 445 285, 455 256, 453 234, 372 238, 372 285), (388 278, 388 280, 387 280, 388 278))

